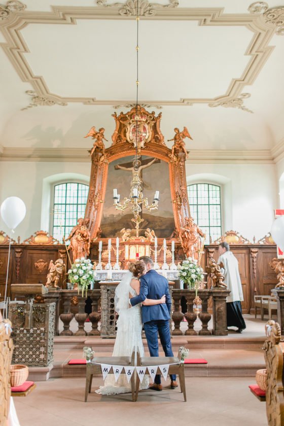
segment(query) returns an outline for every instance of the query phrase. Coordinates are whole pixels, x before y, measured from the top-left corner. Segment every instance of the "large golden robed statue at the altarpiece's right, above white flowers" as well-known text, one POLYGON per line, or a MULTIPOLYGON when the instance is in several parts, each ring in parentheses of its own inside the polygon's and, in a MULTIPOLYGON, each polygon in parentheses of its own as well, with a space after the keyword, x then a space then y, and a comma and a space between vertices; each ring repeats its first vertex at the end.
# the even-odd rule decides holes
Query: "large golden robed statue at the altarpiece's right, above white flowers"
POLYGON ((185 227, 180 230, 180 239, 184 253, 186 253, 188 258, 192 257, 199 261, 203 248, 201 238, 203 238, 204 241, 206 235, 201 231, 199 226, 194 223, 193 218, 185 218, 185 222, 185 227))

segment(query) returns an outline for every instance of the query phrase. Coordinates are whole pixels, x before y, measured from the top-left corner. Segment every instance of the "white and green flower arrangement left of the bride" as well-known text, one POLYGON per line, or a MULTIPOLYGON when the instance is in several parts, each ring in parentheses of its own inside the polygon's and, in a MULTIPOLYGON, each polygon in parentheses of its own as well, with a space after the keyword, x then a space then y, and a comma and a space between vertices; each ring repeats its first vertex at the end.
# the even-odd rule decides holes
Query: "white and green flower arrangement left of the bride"
POLYGON ((75 263, 72 265, 71 269, 68 270, 69 281, 78 284, 78 294, 82 290, 82 297, 84 296, 84 290, 87 290, 89 284, 94 282, 96 277, 96 272, 93 270, 93 265, 90 259, 76 259, 75 263))

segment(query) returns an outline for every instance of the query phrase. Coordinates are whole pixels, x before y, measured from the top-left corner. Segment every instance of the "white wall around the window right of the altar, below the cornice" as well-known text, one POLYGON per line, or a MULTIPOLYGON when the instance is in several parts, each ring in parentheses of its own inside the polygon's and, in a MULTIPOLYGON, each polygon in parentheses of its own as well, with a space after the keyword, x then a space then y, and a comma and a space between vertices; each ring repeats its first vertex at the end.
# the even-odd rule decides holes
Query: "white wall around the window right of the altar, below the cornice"
POLYGON ((253 241, 270 231, 279 207, 275 165, 186 164, 186 173, 190 183, 201 174, 200 182, 221 184, 223 232, 232 229, 253 241))

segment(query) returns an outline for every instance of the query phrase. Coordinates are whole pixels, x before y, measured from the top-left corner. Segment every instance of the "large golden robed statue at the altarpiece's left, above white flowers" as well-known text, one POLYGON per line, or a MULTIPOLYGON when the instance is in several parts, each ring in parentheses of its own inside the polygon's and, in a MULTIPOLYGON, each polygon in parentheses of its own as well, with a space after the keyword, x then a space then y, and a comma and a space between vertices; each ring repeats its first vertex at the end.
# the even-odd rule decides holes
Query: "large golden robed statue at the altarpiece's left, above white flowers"
POLYGON ((81 257, 86 257, 90 253, 90 231, 87 228, 87 220, 83 218, 78 219, 78 225, 76 225, 70 235, 65 238, 65 241, 70 240, 68 250, 73 252, 73 261, 81 257))

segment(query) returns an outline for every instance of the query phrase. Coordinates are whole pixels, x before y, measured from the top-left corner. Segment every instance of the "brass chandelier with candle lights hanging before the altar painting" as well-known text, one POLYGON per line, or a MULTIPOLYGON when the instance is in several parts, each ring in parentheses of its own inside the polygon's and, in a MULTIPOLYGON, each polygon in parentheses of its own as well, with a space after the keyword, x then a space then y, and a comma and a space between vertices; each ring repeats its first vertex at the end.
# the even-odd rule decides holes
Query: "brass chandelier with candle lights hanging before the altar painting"
POLYGON ((129 197, 125 197, 123 203, 120 202, 120 194, 117 193, 117 189, 114 189, 114 205, 117 210, 124 211, 126 208, 130 208, 133 213, 134 218, 131 219, 132 222, 136 224, 136 237, 139 235, 139 224, 144 221, 141 219, 140 212, 142 211, 142 206, 144 206, 148 211, 157 210, 159 202, 159 191, 155 192, 154 199, 152 204, 149 204, 148 198, 144 198, 141 186, 141 180, 138 174, 138 163, 134 162, 133 168, 133 177, 130 184, 130 194, 129 197))

